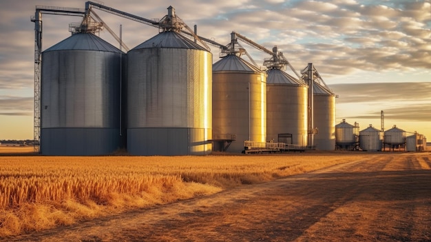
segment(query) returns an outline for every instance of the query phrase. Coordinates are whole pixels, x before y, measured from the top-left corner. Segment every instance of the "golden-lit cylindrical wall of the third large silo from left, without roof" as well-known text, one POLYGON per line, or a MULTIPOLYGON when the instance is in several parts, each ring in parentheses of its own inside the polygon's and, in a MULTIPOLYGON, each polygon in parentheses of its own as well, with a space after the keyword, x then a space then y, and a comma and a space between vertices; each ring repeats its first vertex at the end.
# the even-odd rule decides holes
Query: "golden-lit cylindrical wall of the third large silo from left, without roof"
POLYGON ((244 141, 266 141, 266 76, 257 72, 213 72, 213 134, 236 134, 228 152, 244 141), (249 119, 250 116, 250 119, 249 119))

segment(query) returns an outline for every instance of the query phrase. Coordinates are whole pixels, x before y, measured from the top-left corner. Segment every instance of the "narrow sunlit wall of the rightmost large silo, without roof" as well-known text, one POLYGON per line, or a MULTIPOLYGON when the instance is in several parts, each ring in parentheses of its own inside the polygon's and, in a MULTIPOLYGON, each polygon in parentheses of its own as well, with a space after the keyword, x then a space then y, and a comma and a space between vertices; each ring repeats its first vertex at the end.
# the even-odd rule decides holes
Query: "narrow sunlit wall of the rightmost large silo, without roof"
POLYGON ((335 150, 335 95, 314 97, 314 126, 319 130, 314 135, 317 150, 335 150))

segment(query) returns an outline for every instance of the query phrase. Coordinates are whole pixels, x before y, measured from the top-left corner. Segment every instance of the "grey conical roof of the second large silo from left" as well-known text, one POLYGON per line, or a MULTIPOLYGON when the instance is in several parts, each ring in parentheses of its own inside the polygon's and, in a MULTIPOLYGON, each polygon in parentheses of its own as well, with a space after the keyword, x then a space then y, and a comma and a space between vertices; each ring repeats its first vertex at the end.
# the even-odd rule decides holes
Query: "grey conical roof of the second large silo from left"
POLYGON ((190 39, 182 36, 175 31, 165 31, 157 34, 151 39, 141 43, 132 50, 147 49, 147 48, 180 48, 180 49, 194 49, 205 50, 202 46, 194 43, 190 39))

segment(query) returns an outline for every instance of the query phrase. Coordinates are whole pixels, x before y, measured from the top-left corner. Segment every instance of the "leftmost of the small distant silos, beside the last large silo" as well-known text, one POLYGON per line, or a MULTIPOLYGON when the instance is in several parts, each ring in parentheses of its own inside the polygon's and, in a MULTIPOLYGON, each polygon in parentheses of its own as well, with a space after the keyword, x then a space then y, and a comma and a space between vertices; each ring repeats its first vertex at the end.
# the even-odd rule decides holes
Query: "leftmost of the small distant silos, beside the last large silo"
POLYGON ((343 119, 335 125, 335 145, 337 150, 355 150, 358 143, 359 126, 351 125, 343 119))

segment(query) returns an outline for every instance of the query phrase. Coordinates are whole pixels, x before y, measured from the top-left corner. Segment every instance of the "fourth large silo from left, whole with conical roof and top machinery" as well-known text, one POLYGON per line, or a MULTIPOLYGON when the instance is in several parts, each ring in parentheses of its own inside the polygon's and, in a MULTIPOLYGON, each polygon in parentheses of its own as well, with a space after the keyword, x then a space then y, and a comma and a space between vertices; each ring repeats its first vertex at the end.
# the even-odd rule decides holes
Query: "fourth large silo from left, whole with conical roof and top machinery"
POLYGON ((266 59, 266 139, 280 142, 279 134, 291 134, 291 143, 307 145, 307 92, 302 80, 284 72, 286 63, 273 48, 273 57, 266 59))

